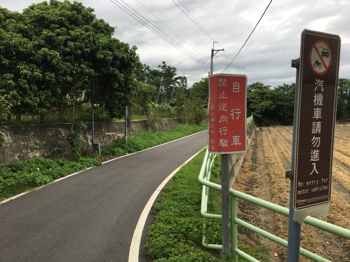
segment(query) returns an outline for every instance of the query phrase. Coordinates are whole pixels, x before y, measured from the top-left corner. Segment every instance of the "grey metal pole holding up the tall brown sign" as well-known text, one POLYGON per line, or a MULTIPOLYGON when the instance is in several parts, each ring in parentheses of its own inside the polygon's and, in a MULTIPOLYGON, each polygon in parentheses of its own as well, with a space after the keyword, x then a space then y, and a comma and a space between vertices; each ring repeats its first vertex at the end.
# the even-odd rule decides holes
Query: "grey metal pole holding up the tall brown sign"
MULTIPOLYGON (((296 76, 296 91, 294 98, 294 118, 293 118, 293 145, 292 145, 292 164, 291 173, 294 174, 295 164, 295 140, 297 129, 297 97, 299 88, 299 65, 295 65, 297 68, 296 76)), ((294 208, 293 208, 293 191, 294 191, 294 175, 290 177, 290 192, 289 192, 289 227, 288 227, 288 253, 287 262, 298 262, 300 256, 300 229, 301 224, 293 220, 294 208)))

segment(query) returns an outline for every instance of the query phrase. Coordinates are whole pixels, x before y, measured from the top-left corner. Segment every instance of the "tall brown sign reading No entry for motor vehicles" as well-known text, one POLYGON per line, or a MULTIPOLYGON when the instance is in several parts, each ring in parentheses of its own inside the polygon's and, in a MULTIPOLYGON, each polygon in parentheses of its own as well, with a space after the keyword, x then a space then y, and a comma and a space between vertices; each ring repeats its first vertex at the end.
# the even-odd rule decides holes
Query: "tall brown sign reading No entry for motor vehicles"
POLYGON ((297 101, 294 209, 331 200, 340 37, 304 30, 297 101))

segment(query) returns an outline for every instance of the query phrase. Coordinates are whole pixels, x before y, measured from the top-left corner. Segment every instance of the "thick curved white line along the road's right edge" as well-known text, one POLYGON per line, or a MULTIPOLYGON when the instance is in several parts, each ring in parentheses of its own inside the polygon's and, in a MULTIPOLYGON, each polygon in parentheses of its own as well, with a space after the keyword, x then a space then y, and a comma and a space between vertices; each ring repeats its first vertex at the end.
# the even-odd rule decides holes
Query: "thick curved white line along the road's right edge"
POLYGON ((171 173, 156 189, 156 191, 152 194, 151 198, 148 200, 146 206, 144 207, 139 221, 136 225, 133 238, 131 240, 130 250, 129 250, 129 260, 128 262, 138 262, 139 261, 139 252, 140 252, 140 242, 141 242, 141 236, 142 231, 144 228, 144 225, 146 223, 147 216, 149 212, 151 211, 151 208, 153 206, 154 201, 156 200, 158 194, 163 189, 163 187, 166 185, 166 183, 183 167, 185 164, 189 163, 196 155, 198 155, 203 149, 195 153, 191 158, 189 158, 184 164, 181 164, 179 167, 175 169, 173 173, 171 173))

